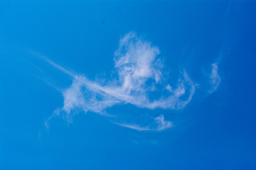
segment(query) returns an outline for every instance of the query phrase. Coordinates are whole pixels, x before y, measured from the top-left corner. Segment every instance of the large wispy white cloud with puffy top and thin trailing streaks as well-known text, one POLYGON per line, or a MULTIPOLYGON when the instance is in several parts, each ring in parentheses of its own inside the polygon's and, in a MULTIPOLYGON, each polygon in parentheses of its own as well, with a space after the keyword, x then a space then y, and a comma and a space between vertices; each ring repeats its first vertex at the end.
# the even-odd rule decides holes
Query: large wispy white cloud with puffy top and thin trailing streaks
MULTIPOLYGON (((114 71, 117 78, 108 80, 104 85, 90 81, 83 75, 70 73, 46 57, 43 58, 73 77, 72 85, 63 91, 64 105, 58 109, 65 119, 72 121, 72 115, 76 112, 106 114, 106 108, 120 103, 130 103, 148 109, 181 109, 186 106, 193 97, 195 84, 186 71, 183 71, 177 83, 170 85, 168 80, 164 79, 168 76, 163 72, 164 65, 158 57, 159 53, 157 46, 138 38, 135 33, 124 35, 114 53, 114 71)), ((215 80, 214 69, 212 81, 218 83, 218 78, 215 80)), ((137 125, 119 125, 135 130, 152 130, 137 125)), ((155 130, 164 130, 173 125, 160 115, 155 118, 155 126, 155 130)))

